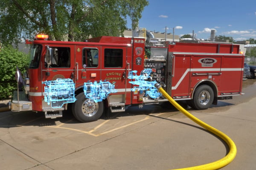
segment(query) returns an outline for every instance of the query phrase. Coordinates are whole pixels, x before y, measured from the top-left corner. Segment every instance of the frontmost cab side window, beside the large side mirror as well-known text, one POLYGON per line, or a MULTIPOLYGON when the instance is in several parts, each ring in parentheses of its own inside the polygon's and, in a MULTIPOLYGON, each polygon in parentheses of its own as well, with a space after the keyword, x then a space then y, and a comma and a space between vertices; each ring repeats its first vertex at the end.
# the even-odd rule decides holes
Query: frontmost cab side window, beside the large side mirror
POLYGON ((53 52, 52 68, 70 67, 70 48, 69 47, 51 47, 53 52))

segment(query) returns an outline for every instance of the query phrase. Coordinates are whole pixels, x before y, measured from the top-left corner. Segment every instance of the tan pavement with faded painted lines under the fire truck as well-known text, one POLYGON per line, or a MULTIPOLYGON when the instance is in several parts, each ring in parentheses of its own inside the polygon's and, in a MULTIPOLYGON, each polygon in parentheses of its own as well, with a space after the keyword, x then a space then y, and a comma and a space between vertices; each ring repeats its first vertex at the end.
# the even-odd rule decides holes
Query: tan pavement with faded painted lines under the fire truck
MULTIPOLYGON (((236 158, 221 170, 256 167, 256 83, 249 81, 243 96, 204 111, 187 108, 235 142, 236 158)), ((0 150, 3 170, 169 170, 210 163, 228 153, 221 139, 169 105, 131 107, 90 123, 77 122, 70 111, 57 119, 4 111, 0 150)))

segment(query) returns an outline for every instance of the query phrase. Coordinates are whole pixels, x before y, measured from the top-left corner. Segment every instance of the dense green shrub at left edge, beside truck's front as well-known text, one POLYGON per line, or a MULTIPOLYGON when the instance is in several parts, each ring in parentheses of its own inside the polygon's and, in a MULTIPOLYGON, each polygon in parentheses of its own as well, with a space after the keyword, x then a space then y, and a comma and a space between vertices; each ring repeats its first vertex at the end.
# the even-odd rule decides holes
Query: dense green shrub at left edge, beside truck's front
POLYGON ((16 66, 24 73, 28 63, 28 55, 11 45, 0 48, 0 100, 8 99, 17 90, 16 66))

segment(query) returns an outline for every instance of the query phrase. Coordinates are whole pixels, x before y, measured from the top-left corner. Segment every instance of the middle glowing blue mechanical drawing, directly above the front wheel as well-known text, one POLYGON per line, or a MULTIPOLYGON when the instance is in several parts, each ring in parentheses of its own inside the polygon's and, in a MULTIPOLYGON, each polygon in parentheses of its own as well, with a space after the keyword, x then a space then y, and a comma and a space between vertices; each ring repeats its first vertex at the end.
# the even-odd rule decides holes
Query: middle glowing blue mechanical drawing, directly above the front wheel
POLYGON ((101 80, 99 82, 85 82, 83 89, 84 95, 88 99, 94 100, 94 102, 101 102, 109 94, 117 92, 115 85, 107 81, 102 82, 101 80))

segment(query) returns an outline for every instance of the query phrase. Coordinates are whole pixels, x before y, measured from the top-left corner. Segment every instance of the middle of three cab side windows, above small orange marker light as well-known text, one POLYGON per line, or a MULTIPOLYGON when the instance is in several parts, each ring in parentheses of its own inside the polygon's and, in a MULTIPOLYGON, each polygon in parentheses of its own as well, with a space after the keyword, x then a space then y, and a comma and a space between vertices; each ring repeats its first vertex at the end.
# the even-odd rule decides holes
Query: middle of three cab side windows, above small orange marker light
POLYGON ((83 68, 98 67, 99 50, 97 48, 83 48, 83 68))

